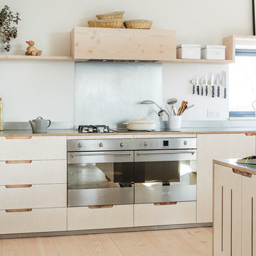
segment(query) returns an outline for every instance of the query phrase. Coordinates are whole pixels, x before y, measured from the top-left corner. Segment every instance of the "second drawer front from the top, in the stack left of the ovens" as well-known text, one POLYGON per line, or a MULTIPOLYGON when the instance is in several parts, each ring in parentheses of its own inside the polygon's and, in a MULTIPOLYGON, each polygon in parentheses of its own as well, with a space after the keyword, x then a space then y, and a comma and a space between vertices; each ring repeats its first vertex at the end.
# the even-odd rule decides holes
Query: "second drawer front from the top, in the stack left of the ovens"
POLYGON ((65 160, 0 161, 0 185, 51 183, 67 183, 65 160))

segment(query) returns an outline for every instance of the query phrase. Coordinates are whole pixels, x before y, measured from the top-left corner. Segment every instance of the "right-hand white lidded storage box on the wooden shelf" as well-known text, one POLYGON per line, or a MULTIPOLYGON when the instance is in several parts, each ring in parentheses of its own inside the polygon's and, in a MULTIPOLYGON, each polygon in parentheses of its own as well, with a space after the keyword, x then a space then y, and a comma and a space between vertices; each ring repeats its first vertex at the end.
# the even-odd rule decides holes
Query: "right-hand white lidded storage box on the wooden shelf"
POLYGON ((201 56, 206 60, 225 60, 225 46, 202 46, 201 56))

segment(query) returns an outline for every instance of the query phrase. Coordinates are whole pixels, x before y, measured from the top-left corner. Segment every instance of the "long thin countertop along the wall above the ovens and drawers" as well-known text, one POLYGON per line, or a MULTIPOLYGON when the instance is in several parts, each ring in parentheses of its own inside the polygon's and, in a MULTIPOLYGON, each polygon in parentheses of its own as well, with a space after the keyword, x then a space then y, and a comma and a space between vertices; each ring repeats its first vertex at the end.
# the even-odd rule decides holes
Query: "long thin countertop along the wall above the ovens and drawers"
POLYGON ((148 134, 230 134, 245 133, 248 136, 256 135, 256 129, 252 127, 213 127, 213 128, 183 128, 180 132, 117 132, 107 134, 81 134, 75 129, 49 129, 47 133, 33 134, 31 129, 27 130, 5 130, 0 132, 0 137, 6 136, 110 136, 110 135, 148 135, 148 134))

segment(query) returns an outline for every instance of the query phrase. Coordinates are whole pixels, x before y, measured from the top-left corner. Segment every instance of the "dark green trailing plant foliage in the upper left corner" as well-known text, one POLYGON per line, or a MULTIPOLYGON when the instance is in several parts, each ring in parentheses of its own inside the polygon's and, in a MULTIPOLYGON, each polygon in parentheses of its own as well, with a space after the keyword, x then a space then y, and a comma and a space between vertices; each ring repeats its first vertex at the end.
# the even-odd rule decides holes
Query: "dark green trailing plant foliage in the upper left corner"
POLYGON ((11 38, 17 37, 18 21, 20 14, 17 12, 14 14, 10 11, 9 6, 4 6, 0 11, 0 35, 2 36, 2 41, 6 45, 4 50, 9 51, 11 49, 11 38))

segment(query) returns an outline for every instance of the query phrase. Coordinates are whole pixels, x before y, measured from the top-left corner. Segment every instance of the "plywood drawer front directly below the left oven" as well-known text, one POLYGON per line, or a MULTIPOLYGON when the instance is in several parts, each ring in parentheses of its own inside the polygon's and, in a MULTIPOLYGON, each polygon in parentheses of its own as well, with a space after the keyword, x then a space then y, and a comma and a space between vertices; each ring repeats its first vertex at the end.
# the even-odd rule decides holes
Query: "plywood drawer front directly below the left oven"
POLYGON ((68 208, 68 230, 124 228, 133 225, 133 206, 112 208, 68 208))

